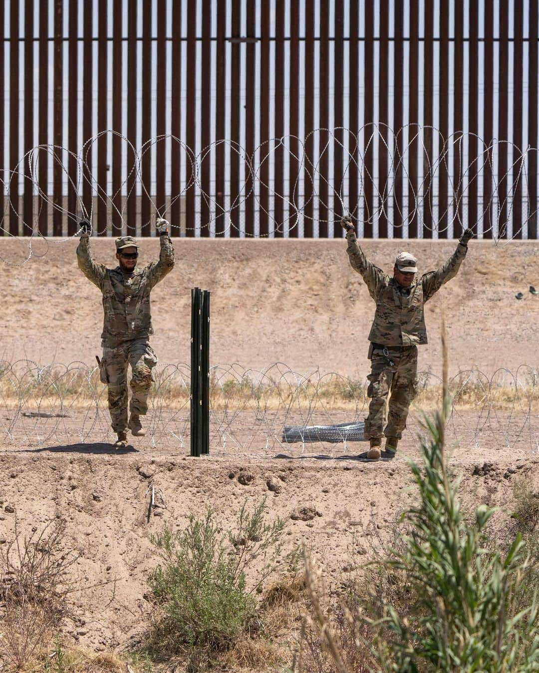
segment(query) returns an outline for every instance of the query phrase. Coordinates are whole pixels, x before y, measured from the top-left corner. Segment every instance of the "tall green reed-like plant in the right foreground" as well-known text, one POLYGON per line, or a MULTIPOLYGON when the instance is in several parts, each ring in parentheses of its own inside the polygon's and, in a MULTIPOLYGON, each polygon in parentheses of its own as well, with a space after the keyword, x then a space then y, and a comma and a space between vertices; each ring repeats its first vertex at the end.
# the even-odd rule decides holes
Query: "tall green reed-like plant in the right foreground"
MULTIPOLYGON (((391 598, 380 614, 349 614, 369 627, 357 639, 358 649, 373 657, 371 670, 392 673, 527 673, 539 670, 539 622, 536 597, 526 594, 529 560, 517 533, 506 551, 489 546, 487 523, 493 509, 476 508, 470 522, 458 500, 458 479, 445 462, 445 422, 450 413, 447 357, 443 344, 443 402, 424 417, 422 464, 410 462, 419 504, 404 513, 407 532, 402 544, 383 564, 408 586, 412 600, 406 610, 391 598)), ((339 639, 320 608, 314 573, 307 563, 312 619, 332 670, 348 673, 339 639)))

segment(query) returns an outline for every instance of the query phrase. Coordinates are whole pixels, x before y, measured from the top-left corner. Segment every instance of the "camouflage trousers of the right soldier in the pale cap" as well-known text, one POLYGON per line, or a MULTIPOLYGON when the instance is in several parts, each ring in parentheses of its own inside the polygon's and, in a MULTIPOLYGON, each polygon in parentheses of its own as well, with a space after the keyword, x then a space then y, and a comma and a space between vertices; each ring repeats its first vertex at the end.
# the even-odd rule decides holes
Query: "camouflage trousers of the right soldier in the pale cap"
POLYGON ((417 346, 402 351, 374 348, 371 355, 371 373, 367 376, 369 416, 365 419, 365 437, 400 437, 406 427, 408 409, 417 394, 417 346), (389 399, 388 423, 386 402, 389 399))

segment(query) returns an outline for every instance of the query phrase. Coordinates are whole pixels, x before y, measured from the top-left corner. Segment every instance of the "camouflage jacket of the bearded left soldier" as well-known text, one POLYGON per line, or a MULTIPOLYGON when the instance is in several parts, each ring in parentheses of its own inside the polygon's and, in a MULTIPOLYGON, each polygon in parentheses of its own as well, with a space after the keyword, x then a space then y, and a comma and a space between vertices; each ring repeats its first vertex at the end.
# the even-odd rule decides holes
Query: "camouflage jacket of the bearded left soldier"
POLYGON ((115 347, 122 341, 141 339, 153 334, 150 312, 150 292, 156 283, 172 271, 174 248, 168 235, 160 236, 159 261, 143 269, 124 273, 120 267, 107 269, 92 257, 88 238, 81 238, 77 248, 79 269, 97 285, 103 294, 104 347, 115 347))

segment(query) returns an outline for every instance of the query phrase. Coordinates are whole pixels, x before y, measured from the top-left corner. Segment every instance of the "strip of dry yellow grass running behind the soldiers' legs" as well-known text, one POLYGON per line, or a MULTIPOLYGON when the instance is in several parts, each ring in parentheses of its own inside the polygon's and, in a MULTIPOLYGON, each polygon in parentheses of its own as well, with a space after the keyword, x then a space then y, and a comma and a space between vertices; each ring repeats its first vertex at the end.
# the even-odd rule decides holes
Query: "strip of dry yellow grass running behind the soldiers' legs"
MULTIPOLYGON (((51 365, 38 370, 28 364, 26 369, 12 371, 9 363, 0 363, 0 401, 10 410, 20 406, 56 411, 87 409, 89 404, 106 404, 106 386, 97 370, 85 367, 65 369, 51 365)), ((509 409, 539 409, 539 386, 534 371, 523 369, 512 376, 499 371, 492 379, 480 371, 461 372, 449 384, 454 406, 481 409, 496 405, 509 409)), ((176 367, 154 370, 155 382, 150 402, 166 404, 169 409, 183 409, 189 404, 188 378, 176 367)), ((425 408, 441 403, 441 382, 429 372, 420 374, 416 404, 425 408)), ((216 411, 233 405, 246 411, 278 411, 321 404, 327 409, 361 411, 367 404, 367 382, 338 374, 301 378, 274 378, 267 374, 260 381, 250 376, 217 376, 210 380, 211 406, 216 411)))

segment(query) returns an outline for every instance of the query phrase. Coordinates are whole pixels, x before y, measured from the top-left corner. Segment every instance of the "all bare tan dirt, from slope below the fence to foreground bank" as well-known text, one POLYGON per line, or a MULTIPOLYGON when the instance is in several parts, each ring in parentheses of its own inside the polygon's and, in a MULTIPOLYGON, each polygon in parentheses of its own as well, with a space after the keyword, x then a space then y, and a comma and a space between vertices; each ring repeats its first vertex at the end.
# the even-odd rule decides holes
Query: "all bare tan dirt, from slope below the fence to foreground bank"
MULTIPOLYGON (((198 285, 212 291, 211 363, 237 361, 264 369, 284 361, 300 372, 319 366, 363 380, 373 303, 349 267, 343 241, 174 244, 176 268, 153 291, 153 345, 161 363, 189 361, 189 291, 198 285)), ((14 264, 24 258, 25 245, 2 240, 0 256, 14 264)), ((76 242, 50 242, 47 254, 38 257, 44 245, 34 246, 36 256, 28 264, 2 266, 2 357, 93 365, 100 352, 98 291, 77 269, 76 242)), ((386 271, 402 248, 417 254, 427 271, 454 246, 364 245, 386 271)), ((93 247, 98 260, 113 263, 110 240, 93 241, 93 247)), ((141 263, 155 256, 157 242, 145 242, 141 263)), ((477 367, 492 376, 498 367, 514 372, 522 363, 535 369, 539 297, 528 291, 529 285, 539 287, 536 242, 472 242, 458 277, 427 305, 430 343, 421 349, 420 369, 441 373, 442 310, 452 374, 477 367), (518 291, 524 295, 520 301, 518 291)), ((365 460, 364 443, 284 444, 282 426, 301 423, 293 413, 265 419, 248 411, 233 411, 231 418, 230 413, 225 425, 219 413, 212 417, 210 455, 190 458, 188 409, 153 410, 149 436, 121 452, 110 444, 102 405, 92 413, 74 410, 67 418, 21 416, 15 425, 11 411, 3 409, 0 544, 13 539, 15 516, 24 536, 57 514, 67 520, 67 543, 81 554, 76 618, 65 625, 75 640, 98 650, 137 647, 152 612, 147 576, 157 557, 149 535, 164 526, 184 527, 190 513, 203 513, 207 505, 228 530, 244 501, 254 506, 267 497, 268 519, 285 519, 279 570, 285 555, 304 543, 331 586, 351 558, 361 563, 368 557, 373 530, 388 539, 396 514, 415 499, 405 459, 419 456, 418 411, 410 416, 398 458, 378 463, 365 460), (246 485, 238 480, 240 474, 250 475, 242 479, 246 485), (272 480, 279 493, 268 490, 272 480), (165 507, 149 510, 151 485, 163 495, 165 507), (313 507, 318 514, 292 520, 298 507, 313 507)), ((347 420, 342 411, 330 410, 329 417, 312 422, 347 420)), ((447 434, 452 466, 463 476, 464 501, 499 505, 503 528, 515 480, 539 486, 539 414, 492 404, 480 411, 458 409, 447 434)))

